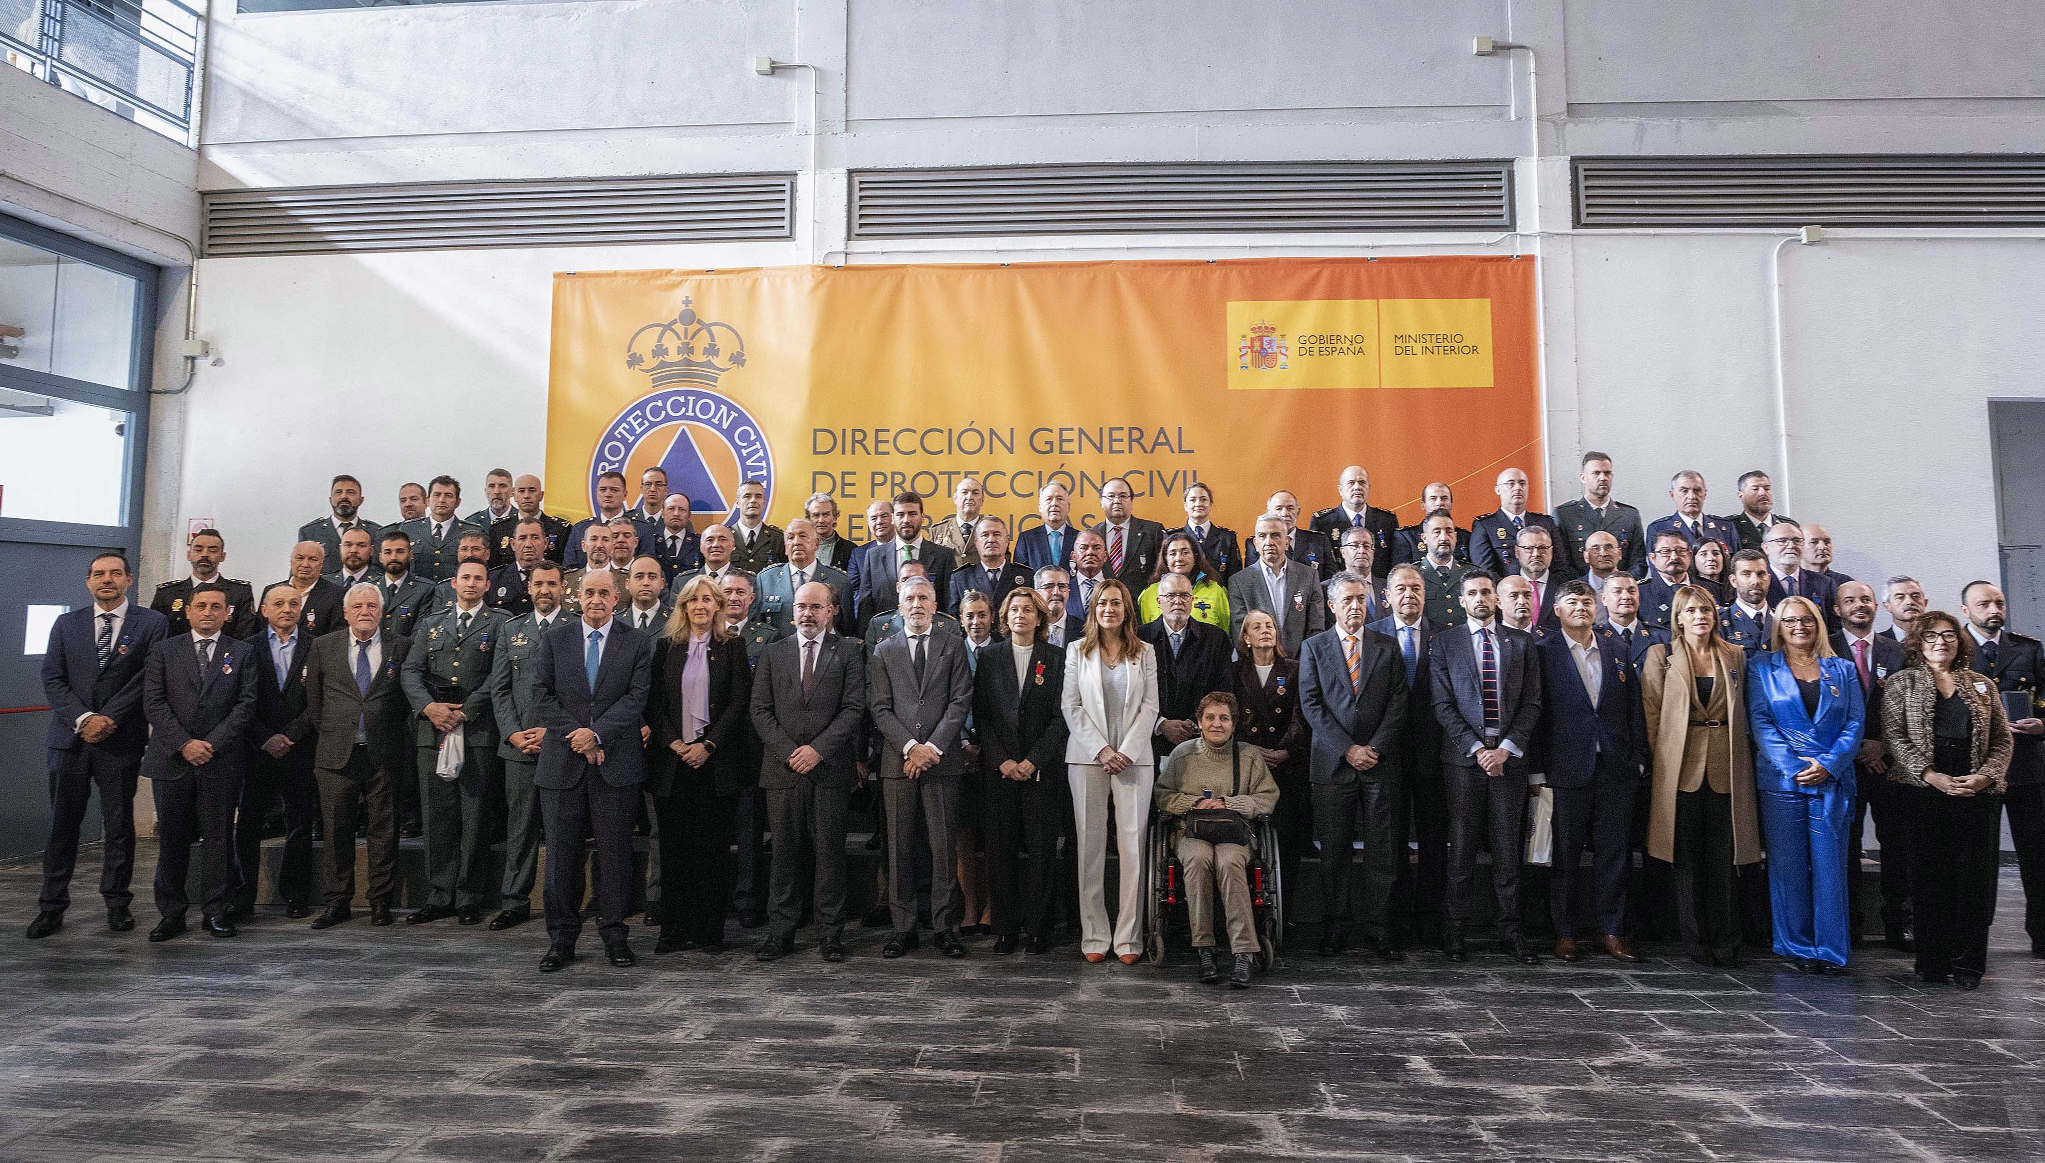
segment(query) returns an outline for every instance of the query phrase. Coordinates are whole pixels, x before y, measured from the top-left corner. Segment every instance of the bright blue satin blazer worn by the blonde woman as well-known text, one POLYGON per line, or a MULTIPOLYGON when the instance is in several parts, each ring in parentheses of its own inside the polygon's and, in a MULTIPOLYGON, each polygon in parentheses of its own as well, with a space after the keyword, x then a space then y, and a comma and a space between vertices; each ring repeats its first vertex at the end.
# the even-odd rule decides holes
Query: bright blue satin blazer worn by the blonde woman
POLYGON ((1746 722, 1755 738, 1755 787, 1820 795, 1830 785, 1798 787, 1796 773, 1818 760, 1853 795, 1853 758, 1867 730, 1861 679, 1847 658, 1818 658, 1818 713, 1804 713, 1789 662, 1777 652, 1746 660, 1746 722))

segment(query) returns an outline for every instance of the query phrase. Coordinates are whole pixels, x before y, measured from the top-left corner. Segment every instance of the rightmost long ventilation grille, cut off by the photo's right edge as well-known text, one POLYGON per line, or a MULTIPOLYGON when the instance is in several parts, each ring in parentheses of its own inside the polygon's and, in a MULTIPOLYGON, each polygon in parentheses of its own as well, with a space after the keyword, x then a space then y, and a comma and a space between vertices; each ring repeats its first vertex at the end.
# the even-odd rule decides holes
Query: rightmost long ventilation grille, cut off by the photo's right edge
POLYGON ((1579 227, 2035 227, 2045 155, 1577 157, 1579 227))

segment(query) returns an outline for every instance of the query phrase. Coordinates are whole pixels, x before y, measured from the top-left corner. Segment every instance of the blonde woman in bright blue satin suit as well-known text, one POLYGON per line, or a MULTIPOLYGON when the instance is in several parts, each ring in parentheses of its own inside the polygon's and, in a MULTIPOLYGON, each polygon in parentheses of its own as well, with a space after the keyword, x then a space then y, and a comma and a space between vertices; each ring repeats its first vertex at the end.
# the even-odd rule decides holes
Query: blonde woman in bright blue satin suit
POLYGON ((1845 973, 1853 946, 1847 830, 1867 707, 1853 662, 1832 654, 1810 599, 1785 597, 1775 607, 1769 646, 1746 664, 1746 719, 1775 952, 1804 973, 1845 973))

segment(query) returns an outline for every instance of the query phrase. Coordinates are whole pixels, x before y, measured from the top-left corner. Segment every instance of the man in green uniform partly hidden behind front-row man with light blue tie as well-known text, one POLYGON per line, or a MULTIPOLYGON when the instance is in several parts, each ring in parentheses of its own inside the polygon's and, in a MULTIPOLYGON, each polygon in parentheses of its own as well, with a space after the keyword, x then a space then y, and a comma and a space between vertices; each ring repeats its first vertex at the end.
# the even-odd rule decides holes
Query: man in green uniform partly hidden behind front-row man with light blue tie
POLYGON ((540 640, 562 625, 560 562, 540 560, 526 570, 526 595, 532 613, 505 621, 497 632, 497 660, 491 662, 491 713, 497 717, 497 758, 505 779, 505 877, 503 912, 491 918, 491 930, 505 930, 532 920, 532 885, 540 871, 540 793, 534 773, 540 766, 540 711, 532 705, 532 677, 540 666, 540 640))

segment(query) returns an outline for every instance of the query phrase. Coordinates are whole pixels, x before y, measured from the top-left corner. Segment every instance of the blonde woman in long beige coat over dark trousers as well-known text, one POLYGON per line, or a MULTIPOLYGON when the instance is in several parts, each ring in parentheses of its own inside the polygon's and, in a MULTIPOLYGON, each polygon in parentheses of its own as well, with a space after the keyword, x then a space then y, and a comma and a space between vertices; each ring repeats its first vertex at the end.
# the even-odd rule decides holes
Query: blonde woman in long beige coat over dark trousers
POLYGON ((1746 652, 1718 638, 1699 587, 1669 603, 1675 638, 1648 648, 1640 695, 1654 748, 1648 854, 1675 865, 1683 944, 1699 965, 1738 965, 1732 869, 1761 860, 1755 754, 1746 742, 1746 652))

